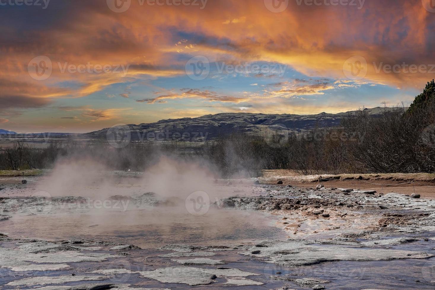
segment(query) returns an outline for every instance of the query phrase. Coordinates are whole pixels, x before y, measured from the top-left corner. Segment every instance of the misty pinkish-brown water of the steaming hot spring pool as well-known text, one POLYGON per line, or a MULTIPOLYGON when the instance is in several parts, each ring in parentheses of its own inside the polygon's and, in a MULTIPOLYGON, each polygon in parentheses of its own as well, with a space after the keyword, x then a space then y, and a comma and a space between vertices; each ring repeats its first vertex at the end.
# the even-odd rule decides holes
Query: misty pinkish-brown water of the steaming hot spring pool
POLYGON ((4 221, 3 233, 49 240, 92 239, 160 247, 165 244, 222 244, 285 237, 271 225, 270 214, 210 209, 194 216, 172 208, 127 212, 15 216, 4 221))

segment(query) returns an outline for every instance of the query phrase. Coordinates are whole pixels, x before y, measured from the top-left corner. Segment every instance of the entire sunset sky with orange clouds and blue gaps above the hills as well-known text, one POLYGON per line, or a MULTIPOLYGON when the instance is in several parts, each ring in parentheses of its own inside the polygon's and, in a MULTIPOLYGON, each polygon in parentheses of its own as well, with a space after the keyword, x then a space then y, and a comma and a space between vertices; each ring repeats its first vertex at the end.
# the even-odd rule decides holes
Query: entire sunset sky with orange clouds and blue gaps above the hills
POLYGON ((0 129, 410 104, 435 0, 0 0, 0 129))

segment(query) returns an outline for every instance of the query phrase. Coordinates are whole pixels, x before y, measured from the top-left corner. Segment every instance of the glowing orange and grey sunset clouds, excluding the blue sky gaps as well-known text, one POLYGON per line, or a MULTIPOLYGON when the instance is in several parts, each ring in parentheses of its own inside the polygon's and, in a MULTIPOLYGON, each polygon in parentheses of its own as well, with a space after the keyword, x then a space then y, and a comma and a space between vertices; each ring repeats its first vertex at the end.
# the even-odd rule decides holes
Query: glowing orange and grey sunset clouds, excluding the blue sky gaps
MULTIPOLYGON (((44 10, 43 16, 41 11, 27 7, 1 11, 2 114, 7 109, 44 107, 55 99, 82 98, 120 83, 143 81, 149 86, 156 79, 185 76, 186 60, 196 55, 227 63, 285 64, 306 76, 338 82, 283 83, 258 93, 220 94, 192 89, 139 101, 165 103, 192 98, 238 105, 253 100, 260 104, 260 97, 268 98, 264 101, 265 109, 294 110, 297 107, 269 107, 266 102, 276 97, 321 95, 327 90, 361 83, 421 88, 433 77, 430 72, 391 73, 377 69, 380 64, 384 67, 405 62, 420 66, 435 62, 432 49, 435 17, 422 7, 420 0, 365 1, 359 10, 299 6, 290 1, 281 13, 269 11, 263 1, 208 1, 204 9, 141 6, 132 1, 123 13, 111 11, 106 1, 57 2, 50 3, 51 9, 44 10), (48 56, 52 62, 53 71, 46 80, 32 79, 27 72, 30 60, 36 56, 48 56), (343 72, 346 60, 352 56, 362 56, 367 61, 365 77, 358 82, 346 82, 343 72), (122 73, 71 73, 63 72, 59 63, 60 67, 65 63, 74 66, 90 63, 127 69, 122 73)), ((336 109, 323 105, 322 111, 336 109)), ((340 110, 347 106, 343 104, 340 110)), ((244 104, 238 107, 252 109, 244 104)), ((298 109, 307 111, 306 107, 298 109)), ((96 110, 83 114, 107 119, 116 112, 96 110)))

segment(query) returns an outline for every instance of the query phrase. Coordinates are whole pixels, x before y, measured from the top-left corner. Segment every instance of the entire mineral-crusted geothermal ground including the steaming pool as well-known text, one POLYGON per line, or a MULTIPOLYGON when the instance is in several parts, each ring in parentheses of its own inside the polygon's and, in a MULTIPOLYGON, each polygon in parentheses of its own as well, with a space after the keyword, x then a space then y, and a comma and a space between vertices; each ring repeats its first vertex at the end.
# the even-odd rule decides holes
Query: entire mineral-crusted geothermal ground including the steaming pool
POLYGON ((125 207, 103 213, 87 197, 0 197, 0 289, 435 287, 435 201, 220 186, 226 193, 199 217, 146 189, 109 194, 125 207))

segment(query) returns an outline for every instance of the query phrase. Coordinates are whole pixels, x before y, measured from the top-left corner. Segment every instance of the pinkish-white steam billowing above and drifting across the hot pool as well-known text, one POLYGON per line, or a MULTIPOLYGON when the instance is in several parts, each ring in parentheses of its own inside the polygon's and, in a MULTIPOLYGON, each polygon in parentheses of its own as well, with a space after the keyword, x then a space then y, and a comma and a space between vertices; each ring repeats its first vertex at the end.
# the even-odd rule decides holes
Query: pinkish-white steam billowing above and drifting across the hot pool
POLYGON ((91 158, 59 159, 50 174, 38 182, 36 190, 47 191, 52 197, 83 197, 87 201, 108 201, 118 196, 127 204, 132 198, 147 197, 147 193, 154 192, 149 196, 159 202, 144 207, 130 202, 123 210, 91 207, 18 216, 13 218, 16 224, 8 231, 52 239, 98 238, 121 242, 122 237, 122 242, 139 246, 252 240, 260 235, 258 231, 264 231, 263 237, 271 235, 261 213, 222 209, 214 204, 235 195, 237 188, 247 188, 226 186, 225 181, 216 184, 216 171, 210 164, 163 155, 144 173, 110 171, 102 164, 91 158), (210 206, 199 216, 191 214, 186 205, 187 197, 196 191, 207 194, 210 206))

